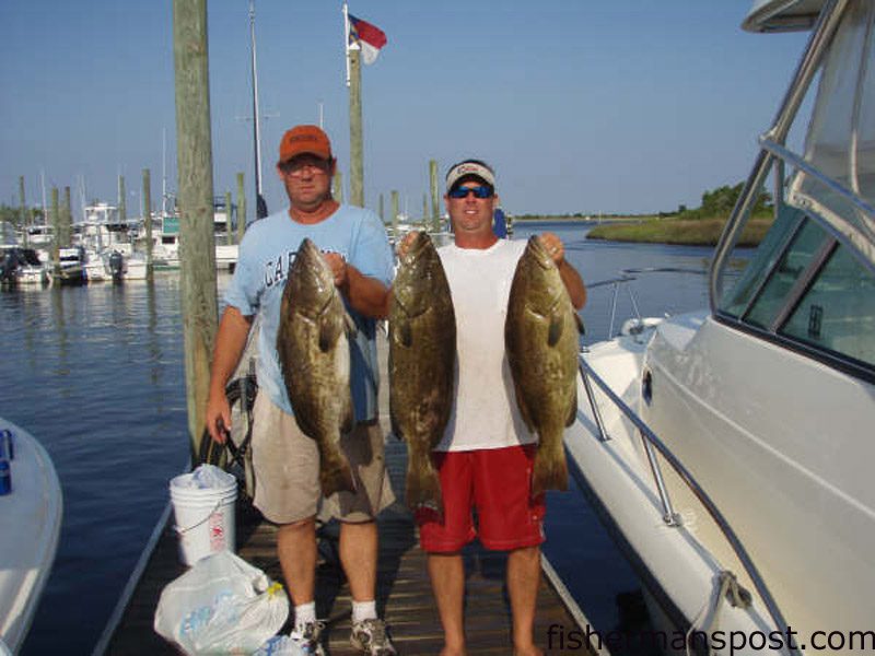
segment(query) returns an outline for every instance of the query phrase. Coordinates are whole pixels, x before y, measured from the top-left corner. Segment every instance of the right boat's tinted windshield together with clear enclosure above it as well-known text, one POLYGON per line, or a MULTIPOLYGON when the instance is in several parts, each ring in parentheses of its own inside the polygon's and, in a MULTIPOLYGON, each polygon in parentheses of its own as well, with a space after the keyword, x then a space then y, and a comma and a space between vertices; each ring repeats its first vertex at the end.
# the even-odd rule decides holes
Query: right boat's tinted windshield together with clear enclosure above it
MULTIPOLYGON (((767 132, 769 156, 748 180, 756 188, 771 166, 774 222, 742 274, 712 286, 712 302, 724 323, 875 379, 875 2, 849 2, 835 24, 803 155, 767 132)), ((750 204, 736 208, 734 229, 750 204)), ((731 259, 719 247, 715 271, 731 259)))

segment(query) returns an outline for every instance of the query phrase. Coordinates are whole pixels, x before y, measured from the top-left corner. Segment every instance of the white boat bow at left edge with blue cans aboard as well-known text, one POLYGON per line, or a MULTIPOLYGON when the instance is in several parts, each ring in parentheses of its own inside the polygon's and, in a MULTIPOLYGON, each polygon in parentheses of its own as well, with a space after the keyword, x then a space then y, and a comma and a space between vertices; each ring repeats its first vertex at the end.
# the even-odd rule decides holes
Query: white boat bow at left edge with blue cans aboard
POLYGON ((0 495, 0 654, 18 653, 48 579, 60 535, 63 501, 43 446, 0 419, 13 434, 11 492, 0 495))

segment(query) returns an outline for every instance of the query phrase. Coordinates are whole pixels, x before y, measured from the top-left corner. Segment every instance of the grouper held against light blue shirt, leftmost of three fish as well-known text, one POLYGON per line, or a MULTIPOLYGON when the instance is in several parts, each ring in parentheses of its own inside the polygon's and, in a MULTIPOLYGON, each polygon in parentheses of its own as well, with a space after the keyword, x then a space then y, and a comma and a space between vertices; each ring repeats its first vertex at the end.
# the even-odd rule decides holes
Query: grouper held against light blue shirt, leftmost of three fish
POLYGON ((351 326, 331 268, 304 238, 282 292, 277 352, 298 426, 319 450, 319 483, 326 496, 355 489, 340 450, 341 436, 353 427, 351 326))

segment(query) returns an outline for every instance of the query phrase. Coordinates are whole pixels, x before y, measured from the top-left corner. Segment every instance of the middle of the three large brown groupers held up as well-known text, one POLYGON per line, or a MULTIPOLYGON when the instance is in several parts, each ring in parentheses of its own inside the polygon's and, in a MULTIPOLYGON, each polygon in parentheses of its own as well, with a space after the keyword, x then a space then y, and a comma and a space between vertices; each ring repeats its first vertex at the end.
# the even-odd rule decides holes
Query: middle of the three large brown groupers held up
POLYGON ((399 256, 389 306, 389 414, 407 441, 407 505, 443 514, 431 452, 453 407, 456 317, 441 258, 418 232, 399 256))

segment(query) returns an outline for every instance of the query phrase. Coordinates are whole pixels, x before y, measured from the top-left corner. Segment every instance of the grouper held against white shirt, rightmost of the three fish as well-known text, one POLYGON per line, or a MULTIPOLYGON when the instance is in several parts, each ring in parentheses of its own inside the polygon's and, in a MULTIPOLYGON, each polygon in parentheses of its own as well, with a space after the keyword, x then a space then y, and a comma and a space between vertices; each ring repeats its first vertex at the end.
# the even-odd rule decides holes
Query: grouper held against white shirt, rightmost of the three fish
POLYGON ((568 490, 562 437, 578 413, 581 330, 559 269, 541 241, 533 236, 516 265, 504 323, 516 403, 528 430, 538 434, 533 496, 568 490))

